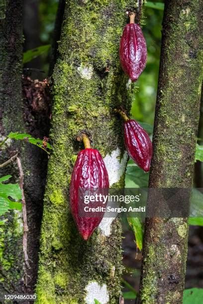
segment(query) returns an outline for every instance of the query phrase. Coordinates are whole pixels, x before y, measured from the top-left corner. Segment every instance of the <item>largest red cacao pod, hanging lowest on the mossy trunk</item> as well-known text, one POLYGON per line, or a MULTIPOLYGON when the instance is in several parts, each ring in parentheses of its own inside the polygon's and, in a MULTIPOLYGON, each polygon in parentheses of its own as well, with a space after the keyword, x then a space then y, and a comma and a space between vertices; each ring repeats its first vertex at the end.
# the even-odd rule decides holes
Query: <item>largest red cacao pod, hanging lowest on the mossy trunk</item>
POLYGON ((99 212, 95 218, 81 217, 79 215, 82 203, 80 189, 89 191, 104 189, 107 192, 108 187, 108 173, 100 152, 91 148, 79 152, 71 177, 70 205, 76 226, 85 240, 88 240, 99 226, 104 212, 99 212))

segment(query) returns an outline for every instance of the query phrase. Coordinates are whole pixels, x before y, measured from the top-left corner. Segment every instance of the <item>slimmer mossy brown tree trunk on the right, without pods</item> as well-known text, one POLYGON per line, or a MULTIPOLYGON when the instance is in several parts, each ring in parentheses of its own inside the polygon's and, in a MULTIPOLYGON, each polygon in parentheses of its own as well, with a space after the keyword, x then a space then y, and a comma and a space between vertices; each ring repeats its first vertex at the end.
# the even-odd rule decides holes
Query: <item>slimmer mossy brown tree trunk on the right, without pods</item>
MULTIPOLYGON (((165 2, 152 188, 192 186, 201 97, 200 15, 199 0, 165 2)), ((146 221, 140 303, 182 303, 187 242, 187 218, 146 221)))

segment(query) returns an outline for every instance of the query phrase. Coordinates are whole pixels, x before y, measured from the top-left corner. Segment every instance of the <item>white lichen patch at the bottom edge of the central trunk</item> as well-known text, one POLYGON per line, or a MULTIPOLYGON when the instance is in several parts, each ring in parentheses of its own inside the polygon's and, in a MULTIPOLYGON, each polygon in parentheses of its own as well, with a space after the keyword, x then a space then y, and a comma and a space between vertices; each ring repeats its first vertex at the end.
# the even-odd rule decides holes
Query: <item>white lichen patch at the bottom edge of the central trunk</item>
POLYGON ((98 300, 101 304, 109 302, 109 295, 105 284, 100 286, 96 281, 93 281, 88 284, 85 290, 87 292, 85 298, 86 304, 95 304, 95 300, 98 300))

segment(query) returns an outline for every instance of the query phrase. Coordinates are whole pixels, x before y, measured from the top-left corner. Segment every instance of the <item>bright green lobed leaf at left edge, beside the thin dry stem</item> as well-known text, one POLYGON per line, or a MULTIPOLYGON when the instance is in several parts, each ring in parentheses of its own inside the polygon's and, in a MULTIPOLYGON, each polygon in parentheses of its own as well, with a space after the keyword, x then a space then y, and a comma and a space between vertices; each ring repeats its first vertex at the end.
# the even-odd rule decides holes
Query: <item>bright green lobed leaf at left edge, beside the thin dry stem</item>
MULTIPOLYGON (((8 180, 11 175, 6 175, 0 178, 0 216, 8 212, 9 209, 22 209, 20 202, 14 200, 21 200, 22 193, 18 184, 2 184, 2 181, 8 180), (12 201, 9 199, 12 199, 12 201)), ((0 225, 3 225, 4 221, 1 221, 0 225)))

